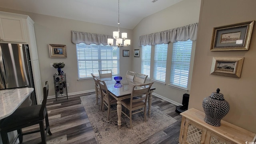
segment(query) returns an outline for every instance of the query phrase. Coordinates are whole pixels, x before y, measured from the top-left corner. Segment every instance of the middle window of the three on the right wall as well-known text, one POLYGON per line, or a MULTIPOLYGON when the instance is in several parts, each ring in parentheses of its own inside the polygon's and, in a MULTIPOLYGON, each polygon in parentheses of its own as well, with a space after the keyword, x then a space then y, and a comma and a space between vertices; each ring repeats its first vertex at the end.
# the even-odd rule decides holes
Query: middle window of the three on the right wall
POLYGON ((155 45, 153 79, 160 82, 165 82, 167 48, 168 44, 155 45))

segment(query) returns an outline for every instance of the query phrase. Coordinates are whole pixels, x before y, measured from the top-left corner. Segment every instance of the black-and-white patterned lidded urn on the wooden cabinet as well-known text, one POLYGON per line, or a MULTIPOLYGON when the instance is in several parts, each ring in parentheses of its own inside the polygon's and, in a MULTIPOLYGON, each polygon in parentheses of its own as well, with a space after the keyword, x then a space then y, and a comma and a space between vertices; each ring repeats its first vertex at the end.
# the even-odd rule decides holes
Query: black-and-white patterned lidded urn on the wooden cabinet
POLYGON ((218 88, 216 92, 212 92, 203 100, 204 121, 212 126, 220 126, 220 120, 228 114, 230 108, 228 102, 224 100, 223 94, 219 92, 218 88))

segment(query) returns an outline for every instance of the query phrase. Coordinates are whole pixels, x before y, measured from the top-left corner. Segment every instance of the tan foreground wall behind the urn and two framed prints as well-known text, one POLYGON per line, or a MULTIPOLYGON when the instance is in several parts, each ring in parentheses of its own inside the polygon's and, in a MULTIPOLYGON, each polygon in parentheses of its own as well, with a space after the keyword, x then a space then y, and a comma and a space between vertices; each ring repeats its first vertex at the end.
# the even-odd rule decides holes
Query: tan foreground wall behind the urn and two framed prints
POLYGON ((256 133, 256 28, 249 50, 210 51, 214 27, 256 20, 255 0, 202 0, 189 108, 203 111, 203 98, 220 88, 230 111, 223 120, 256 133), (240 78, 210 74, 212 57, 244 57, 240 78))

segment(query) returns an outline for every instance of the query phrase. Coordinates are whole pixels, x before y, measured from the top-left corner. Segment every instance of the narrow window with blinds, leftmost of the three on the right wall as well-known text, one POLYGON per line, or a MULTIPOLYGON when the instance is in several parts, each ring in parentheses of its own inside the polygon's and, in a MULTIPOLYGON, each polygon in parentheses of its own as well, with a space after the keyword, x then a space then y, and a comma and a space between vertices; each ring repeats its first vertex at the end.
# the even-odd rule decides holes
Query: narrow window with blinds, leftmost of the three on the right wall
POLYGON ((150 78, 150 59, 151 59, 151 46, 142 45, 141 50, 141 72, 142 74, 148 75, 148 78, 150 78))

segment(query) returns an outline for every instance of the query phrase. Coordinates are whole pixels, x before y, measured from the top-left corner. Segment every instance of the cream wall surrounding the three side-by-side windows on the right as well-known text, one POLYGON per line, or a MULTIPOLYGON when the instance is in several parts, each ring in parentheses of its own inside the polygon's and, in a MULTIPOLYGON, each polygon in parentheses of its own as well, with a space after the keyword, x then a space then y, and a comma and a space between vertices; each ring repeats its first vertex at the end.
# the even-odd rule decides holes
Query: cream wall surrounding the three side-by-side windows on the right
MULTIPOLYGON (((133 30, 133 39, 134 39, 134 49, 140 49, 141 46, 138 46, 139 36, 145 34, 152 34, 154 32, 161 32, 164 30, 169 30, 172 28, 178 28, 181 26, 186 26, 189 24, 197 23, 199 21, 199 12, 200 12, 200 2, 201 0, 184 0, 170 6, 160 12, 152 14, 144 18, 133 30)), ((156 87, 154 92, 160 96, 163 96, 169 100, 182 103, 183 94, 190 93, 190 82, 192 78, 192 68, 194 61, 194 51, 195 51, 196 42, 193 42, 192 46, 192 58, 190 65, 190 76, 188 82, 188 92, 178 90, 176 88, 171 88, 167 84, 170 84, 170 65, 172 57, 172 44, 168 45, 168 58, 167 58, 167 67, 166 67, 166 85, 154 83, 153 86, 156 87)), ((151 58, 154 58, 154 46, 152 46, 151 58)), ((154 67, 154 64, 151 60, 151 68, 154 67)), ((140 58, 134 58, 132 62, 132 69, 135 72, 140 72, 141 68, 141 56, 140 58)), ((153 72, 151 71, 150 78, 153 78, 153 72)))

